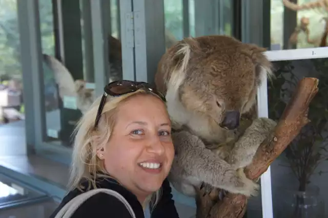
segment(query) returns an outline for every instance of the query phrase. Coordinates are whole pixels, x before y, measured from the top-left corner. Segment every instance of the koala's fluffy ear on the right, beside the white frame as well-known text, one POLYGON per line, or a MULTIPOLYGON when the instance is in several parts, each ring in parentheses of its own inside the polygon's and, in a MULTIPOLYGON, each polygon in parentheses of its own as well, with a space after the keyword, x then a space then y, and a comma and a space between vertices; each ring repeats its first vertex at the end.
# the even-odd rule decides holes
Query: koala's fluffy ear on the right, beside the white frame
POLYGON ((254 44, 243 43, 240 52, 249 56, 255 64, 255 74, 258 84, 260 84, 261 75, 265 71, 269 79, 274 78, 271 61, 263 54, 267 49, 254 44), (264 69, 264 71, 263 71, 264 69))

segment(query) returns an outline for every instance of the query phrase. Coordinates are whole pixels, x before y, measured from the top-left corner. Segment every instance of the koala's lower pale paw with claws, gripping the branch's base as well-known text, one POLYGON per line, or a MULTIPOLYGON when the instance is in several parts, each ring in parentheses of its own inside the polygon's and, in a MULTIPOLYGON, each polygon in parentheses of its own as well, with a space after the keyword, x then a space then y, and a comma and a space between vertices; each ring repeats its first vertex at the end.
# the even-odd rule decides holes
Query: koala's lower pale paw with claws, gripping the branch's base
POLYGON ((243 168, 237 170, 238 182, 237 192, 247 197, 256 196, 258 194, 259 184, 246 177, 243 168))

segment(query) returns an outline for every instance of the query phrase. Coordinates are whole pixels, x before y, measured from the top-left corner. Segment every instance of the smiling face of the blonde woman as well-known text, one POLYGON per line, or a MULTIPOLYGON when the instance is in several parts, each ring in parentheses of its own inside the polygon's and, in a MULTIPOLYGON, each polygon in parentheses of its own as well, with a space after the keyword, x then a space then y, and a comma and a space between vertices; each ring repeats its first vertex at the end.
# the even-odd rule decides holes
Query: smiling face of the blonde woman
POLYGON ((151 95, 122 103, 104 159, 106 170, 144 201, 168 176, 174 158, 165 104, 151 95))

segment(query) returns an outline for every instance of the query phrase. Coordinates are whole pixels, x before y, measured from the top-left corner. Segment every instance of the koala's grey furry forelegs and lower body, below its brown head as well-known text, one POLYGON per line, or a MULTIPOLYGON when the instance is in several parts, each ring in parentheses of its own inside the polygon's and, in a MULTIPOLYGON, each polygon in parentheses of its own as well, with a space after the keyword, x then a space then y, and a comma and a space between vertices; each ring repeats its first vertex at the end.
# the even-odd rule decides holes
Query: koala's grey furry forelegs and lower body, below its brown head
POLYGON ((268 118, 255 119, 237 140, 229 155, 223 159, 210 150, 203 141, 187 130, 172 134, 176 155, 169 180, 183 194, 194 197, 195 187, 202 182, 232 193, 256 195, 258 184, 249 180, 243 167, 249 165, 258 146, 276 126, 268 118))

